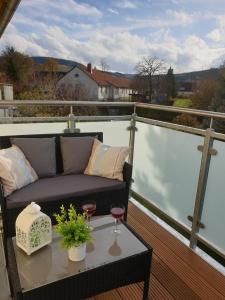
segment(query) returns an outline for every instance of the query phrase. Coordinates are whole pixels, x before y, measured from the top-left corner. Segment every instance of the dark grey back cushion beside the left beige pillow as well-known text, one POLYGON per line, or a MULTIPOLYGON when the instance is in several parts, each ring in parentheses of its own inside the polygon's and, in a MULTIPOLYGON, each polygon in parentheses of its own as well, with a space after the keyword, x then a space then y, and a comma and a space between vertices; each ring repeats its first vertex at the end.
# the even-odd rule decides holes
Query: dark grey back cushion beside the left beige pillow
POLYGON ((12 138, 34 168, 38 177, 56 175, 55 138, 12 138))

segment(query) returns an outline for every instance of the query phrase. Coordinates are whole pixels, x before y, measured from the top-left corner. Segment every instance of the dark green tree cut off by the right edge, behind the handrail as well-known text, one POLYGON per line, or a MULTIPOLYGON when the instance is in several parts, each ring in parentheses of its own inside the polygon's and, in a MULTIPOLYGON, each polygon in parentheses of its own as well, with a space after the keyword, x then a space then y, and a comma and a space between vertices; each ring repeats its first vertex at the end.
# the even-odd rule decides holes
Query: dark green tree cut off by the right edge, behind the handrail
MULTIPOLYGON (((212 100, 212 105, 209 107, 210 110, 217 112, 225 112, 225 66, 221 67, 220 75, 215 87, 215 96, 212 100)), ((213 128, 218 131, 225 133, 225 121, 214 120, 213 128)))

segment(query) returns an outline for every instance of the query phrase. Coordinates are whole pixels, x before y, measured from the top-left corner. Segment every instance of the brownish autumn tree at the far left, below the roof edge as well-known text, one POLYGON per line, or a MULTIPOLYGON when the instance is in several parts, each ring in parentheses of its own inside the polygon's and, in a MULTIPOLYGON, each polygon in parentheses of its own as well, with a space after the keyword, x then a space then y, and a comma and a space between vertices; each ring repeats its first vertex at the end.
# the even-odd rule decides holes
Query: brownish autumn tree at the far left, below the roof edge
POLYGON ((14 84, 14 90, 20 91, 29 83, 33 74, 33 60, 23 53, 7 46, 0 56, 0 71, 14 84))

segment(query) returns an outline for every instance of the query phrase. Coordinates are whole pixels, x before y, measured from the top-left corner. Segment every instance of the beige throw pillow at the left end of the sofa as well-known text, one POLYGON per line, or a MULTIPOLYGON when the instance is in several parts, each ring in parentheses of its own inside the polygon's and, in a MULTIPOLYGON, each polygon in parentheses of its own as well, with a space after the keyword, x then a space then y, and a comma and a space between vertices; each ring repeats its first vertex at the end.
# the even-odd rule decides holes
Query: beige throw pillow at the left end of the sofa
POLYGON ((0 150, 0 180, 5 197, 37 179, 34 169, 17 146, 0 150))

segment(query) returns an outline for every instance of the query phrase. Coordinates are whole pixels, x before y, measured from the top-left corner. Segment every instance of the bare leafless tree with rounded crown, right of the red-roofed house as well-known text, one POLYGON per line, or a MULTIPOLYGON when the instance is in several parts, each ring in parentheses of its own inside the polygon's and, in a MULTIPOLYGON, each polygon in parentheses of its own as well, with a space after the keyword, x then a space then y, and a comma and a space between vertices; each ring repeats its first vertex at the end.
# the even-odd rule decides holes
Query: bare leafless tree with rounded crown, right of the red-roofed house
POLYGON ((148 84, 149 102, 152 101, 153 76, 159 75, 164 70, 164 61, 157 57, 143 57, 135 67, 139 76, 145 76, 148 84))

